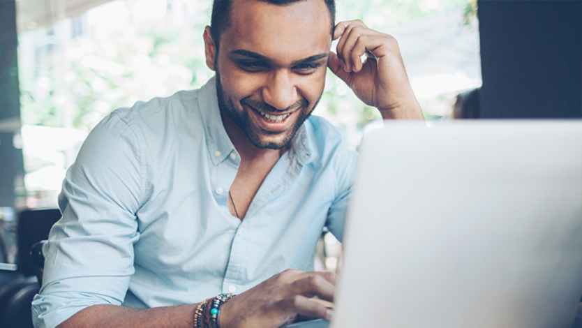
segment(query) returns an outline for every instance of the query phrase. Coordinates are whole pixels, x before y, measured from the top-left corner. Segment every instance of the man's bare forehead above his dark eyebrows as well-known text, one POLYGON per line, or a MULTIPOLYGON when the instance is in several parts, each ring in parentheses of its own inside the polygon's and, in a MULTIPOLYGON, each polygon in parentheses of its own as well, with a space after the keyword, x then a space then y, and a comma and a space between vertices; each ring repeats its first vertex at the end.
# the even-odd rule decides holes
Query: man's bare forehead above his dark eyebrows
POLYGON ((234 0, 230 27, 221 49, 250 50, 278 61, 293 61, 329 50, 331 22, 324 0, 285 6, 257 0, 234 0))

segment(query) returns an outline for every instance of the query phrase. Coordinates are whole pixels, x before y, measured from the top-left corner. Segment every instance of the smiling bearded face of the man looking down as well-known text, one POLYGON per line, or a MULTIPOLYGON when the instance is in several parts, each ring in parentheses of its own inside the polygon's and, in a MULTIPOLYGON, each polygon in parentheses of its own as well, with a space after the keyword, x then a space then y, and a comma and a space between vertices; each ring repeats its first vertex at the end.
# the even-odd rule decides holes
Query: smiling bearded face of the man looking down
POLYGON ((331 45, 323 0, 233 1, 216 68, 218 103, 258 148, 281 149, 317 105, 331 45))

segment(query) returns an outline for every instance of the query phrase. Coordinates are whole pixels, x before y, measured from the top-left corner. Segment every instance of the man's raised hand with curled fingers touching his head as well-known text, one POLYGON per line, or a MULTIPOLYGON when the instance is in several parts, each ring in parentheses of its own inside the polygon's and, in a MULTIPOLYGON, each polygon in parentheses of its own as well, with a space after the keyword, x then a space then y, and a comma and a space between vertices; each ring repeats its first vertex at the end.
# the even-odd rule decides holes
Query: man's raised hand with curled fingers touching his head
POLYGON ((338 23, 334 40, 338 38, 337 54, 329 54, 328 66, 361 101, 378 108, 384 119, 424 119, 395 38, 360 20, 338 23), (368 58, 362 63, 364 54, 368 58))

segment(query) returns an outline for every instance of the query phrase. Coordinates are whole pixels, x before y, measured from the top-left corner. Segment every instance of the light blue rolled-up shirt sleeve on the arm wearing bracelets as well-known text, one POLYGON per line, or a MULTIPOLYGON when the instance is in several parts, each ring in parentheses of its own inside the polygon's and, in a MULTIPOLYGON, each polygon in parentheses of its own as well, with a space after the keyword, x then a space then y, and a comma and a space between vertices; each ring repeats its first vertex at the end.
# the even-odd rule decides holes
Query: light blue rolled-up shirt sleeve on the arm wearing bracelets
POLYGON ((117 112, 85 140, 59 195, 63 216, 50 231, 34 327, 56 327, 87 306, 120 305, 133 274, 135 213, 144 169, 135 131, 117 112))

